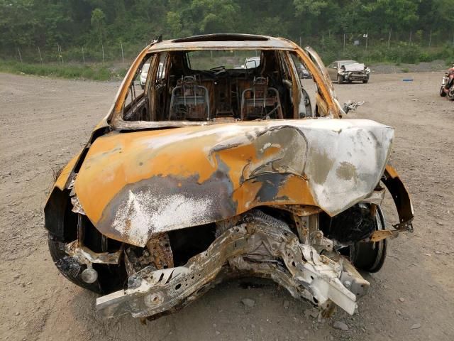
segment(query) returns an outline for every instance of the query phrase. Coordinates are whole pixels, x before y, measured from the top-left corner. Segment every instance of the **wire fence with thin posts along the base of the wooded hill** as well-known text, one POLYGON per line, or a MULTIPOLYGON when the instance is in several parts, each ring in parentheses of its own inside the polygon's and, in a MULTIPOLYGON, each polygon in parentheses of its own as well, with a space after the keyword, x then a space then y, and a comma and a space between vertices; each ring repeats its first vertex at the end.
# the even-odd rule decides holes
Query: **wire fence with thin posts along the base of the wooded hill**
MULTIPOLYGON (((419 63, 436 59, 454 60, 454 36, 409 31, 407 33, 323 33, 311 37, 287 37, 302 46, 311 45, 325 63, 336 59, 358 59, 369 63, 419 63)), ((118 43, 65 46, 16 46, 0 50, 5 60, 21 63, 131 64, 147 43, 118 43)))

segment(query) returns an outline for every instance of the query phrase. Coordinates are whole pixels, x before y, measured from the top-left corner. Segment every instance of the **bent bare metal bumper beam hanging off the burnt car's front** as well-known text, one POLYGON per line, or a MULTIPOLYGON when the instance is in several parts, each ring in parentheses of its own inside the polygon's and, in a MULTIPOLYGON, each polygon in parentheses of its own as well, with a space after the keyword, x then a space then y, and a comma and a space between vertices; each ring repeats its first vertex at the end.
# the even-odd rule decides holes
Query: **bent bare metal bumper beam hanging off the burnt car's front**
POLYGON ((128 278, 126 290, 98 298, 96 308, 106 317, 131 313, 136 318, 175 310, 234 270, 272 278, 294 298, 322 309, 332 301, 353 314, 357 297, 369 283, 347 259, 336 262, 319 255, 314 247, 301 244, 284 222, 260 211, 245 215, 244 221, 226 229, 185 266, 138 271, 128 278))

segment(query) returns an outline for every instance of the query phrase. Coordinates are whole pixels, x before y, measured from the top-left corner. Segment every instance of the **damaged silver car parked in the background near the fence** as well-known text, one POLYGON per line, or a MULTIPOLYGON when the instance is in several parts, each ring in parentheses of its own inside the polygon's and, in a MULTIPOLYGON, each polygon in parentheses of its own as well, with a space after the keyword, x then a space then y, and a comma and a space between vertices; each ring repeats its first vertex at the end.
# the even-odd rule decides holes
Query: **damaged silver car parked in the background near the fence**
POLYGON ((369 82, 370 68, 355 60, 336 60, 328 65, 328 75, 338 84, 353 81, 369 82))

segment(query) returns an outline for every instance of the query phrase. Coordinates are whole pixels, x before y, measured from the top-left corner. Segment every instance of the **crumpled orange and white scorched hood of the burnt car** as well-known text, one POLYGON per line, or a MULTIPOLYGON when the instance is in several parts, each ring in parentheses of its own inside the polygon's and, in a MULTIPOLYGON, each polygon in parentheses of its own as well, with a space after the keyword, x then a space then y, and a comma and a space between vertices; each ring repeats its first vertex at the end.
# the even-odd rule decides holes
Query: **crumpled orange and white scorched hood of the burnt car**
POLYGON ((394 129, 360 119, 250 121, 96 139, 74 190, 108 237, 150 236, 260 205, 316 205, 336 215, 372 192, 394 129))

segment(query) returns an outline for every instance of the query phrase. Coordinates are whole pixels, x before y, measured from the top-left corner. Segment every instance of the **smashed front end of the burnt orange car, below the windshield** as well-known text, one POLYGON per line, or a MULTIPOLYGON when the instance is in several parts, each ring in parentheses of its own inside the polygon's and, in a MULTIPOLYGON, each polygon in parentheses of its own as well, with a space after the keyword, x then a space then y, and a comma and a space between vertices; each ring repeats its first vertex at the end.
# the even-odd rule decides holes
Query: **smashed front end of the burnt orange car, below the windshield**
POLYGON ((323 315, 353 314, 370 285, 357 269, 378 271, 386 239, 412 230, 387 165, 392 137, 344 119, 106 134, 46 205, 52 257, 106 294, 96 300, 106 317, 157 318, 238 276, 271 278, 323 315))

